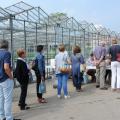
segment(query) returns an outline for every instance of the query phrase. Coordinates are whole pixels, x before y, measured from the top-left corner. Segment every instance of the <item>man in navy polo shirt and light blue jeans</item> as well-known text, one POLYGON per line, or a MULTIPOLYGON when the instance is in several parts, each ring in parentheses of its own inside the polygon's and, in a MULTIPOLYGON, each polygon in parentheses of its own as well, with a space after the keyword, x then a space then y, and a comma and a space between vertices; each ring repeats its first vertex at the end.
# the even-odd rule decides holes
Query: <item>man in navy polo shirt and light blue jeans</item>
POLYGON ((12 115, 14 82, 8 47, 8 41, 0 41, 0 120, 21 120, 13 119, 12 115))

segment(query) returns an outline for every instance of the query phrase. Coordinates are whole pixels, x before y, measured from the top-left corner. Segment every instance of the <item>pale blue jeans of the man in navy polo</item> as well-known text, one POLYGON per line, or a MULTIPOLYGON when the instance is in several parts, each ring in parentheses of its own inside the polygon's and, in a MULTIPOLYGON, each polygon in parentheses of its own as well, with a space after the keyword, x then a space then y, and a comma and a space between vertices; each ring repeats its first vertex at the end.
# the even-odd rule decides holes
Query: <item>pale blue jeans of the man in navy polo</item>
POLYGON ((13 120, 13 86, 14 82, 10 79, 0 83, 0 119, 6 118, 6 120, 13 120))

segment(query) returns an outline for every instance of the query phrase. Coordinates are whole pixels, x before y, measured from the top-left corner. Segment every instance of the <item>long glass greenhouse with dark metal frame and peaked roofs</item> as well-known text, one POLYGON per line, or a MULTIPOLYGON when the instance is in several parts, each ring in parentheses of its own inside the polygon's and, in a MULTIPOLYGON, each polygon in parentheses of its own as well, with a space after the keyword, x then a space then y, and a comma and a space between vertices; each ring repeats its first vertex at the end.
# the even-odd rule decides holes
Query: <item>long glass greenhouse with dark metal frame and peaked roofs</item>
POLYGON ((120 39, 120 34, 73 17, 57 23, 40 7, 24 2, 0 8, 0 39, 10 43, 13 66, 18 48, 27 51, 29 62, 35 56, 36 45, 43 44, 46 65, 49 65, 49 60, 56 55, 58 44, 64 43, 69 54, 74 45, 80 45, 87 58, 100 41, 110 45, 113 38, 120 39))

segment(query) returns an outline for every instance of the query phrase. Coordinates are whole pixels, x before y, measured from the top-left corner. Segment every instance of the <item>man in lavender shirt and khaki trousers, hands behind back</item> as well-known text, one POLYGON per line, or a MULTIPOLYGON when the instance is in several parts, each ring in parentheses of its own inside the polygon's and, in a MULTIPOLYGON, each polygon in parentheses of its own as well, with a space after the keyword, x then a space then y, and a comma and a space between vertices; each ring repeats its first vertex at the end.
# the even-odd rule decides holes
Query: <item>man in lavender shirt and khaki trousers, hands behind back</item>
POLYGON ((100 87, 101 90, 107 90, 105 86, 105 74, 106 74, 106 48, 105 43, 101 42, 94 50, 94 61, 96 65, 96 88, 100 87))

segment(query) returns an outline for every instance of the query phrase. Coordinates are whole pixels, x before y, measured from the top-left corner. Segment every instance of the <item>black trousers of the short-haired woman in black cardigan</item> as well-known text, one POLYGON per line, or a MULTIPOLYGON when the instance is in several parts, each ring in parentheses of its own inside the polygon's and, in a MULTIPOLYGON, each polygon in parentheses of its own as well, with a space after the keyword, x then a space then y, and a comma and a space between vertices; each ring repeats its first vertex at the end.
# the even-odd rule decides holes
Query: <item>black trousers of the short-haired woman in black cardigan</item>
POLYGON ((21 88, 21 94, 20 94, 19 104, 20 104, 21 107, 25 107, 25 101, 26 101, 26 96, 27 96, 28 83, 21 84, 20 88, 21 88))

